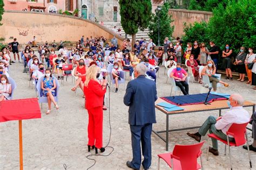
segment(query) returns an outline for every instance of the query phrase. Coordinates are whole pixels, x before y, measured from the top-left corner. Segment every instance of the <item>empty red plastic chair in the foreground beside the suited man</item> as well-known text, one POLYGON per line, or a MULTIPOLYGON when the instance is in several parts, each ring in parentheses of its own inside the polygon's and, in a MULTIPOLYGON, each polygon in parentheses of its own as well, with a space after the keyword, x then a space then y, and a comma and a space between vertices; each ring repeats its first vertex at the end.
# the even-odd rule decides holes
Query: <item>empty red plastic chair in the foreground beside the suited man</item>
POLYGON ((163 159, 172 169, 194 170, 203 168, 201 159, 201 147, 205 141, 193 145, 175 145, 173 152, 158 155, 158 170, 160 158, 163 159), (197 163, 200 157, 201 165, 197 163))

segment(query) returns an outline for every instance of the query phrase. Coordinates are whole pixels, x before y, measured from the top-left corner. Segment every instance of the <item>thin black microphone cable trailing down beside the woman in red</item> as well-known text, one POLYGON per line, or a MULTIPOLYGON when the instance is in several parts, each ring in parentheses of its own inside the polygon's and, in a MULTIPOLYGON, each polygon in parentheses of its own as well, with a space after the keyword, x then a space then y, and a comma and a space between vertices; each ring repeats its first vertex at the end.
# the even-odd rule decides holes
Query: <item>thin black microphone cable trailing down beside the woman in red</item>
MULTIPOLYGON (((107 84, 107 87, 109 87, 109 84, 107 84)), ((109 87, 109 127, 110 127, 109 141, 107 142, 107 145, 105 146, 105 148, 106 147, 112 148, 112 151, 109 154, 107 154, 107 155, 100 155, 100 154, 89 154, 89 155, 87 155, 86 156, 87 159, 94 161, 93 164, 89 168, 87 168, 87 170, 92 168, 96 164, 96 159, 90 158, 91 156, 107 157, 107 156, 109 156, 114 151, 114 147, 109 146, 110 139, 111 139, 111 133, 112 133, 111 122, 110 122, 110 87, 109 87)), ((106 152, 106 150, 105 150, 105 152, 106 152)))

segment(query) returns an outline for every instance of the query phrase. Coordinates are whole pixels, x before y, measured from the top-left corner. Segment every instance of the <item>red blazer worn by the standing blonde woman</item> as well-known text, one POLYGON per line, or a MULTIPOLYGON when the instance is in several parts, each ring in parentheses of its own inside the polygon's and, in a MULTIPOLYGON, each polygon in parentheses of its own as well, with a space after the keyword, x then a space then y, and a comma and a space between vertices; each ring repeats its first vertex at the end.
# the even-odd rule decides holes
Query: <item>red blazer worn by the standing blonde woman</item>
POLYGON ((92 109, 96 107, 103 107, 103 98, 106 93, 106 89, 102 89, 102 86, 95 81, 90 80, 88 87, 84 86, 84 95, 86 98, 85 108, 92 109))

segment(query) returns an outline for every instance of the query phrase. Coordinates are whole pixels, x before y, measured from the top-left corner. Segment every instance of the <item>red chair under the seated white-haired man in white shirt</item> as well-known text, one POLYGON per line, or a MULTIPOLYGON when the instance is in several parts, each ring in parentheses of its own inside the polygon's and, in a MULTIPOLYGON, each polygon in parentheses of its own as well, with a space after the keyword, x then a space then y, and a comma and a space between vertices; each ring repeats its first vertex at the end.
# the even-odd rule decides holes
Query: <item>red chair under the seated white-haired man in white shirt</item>
POLYGON ((227 141, 223 140, 223 139, 219 138, 218 136, 216 136, 213 133, 208 134, 207 160, 208 160, 208 157, 209 157, 209 140, 210 140, 210 138, 217 139, 217 140, 219 140, 219 141, 221 141, 222 143, 225 144, 225 155, 226 155, 226 145, 228 145, 228 152, 230 153, 230 166, 231 166, 231 169, 232 169, 232 161, 231 161, 230 146, 241 146, 241 145, 244 145, 246 143, 247 144, 247 149, 248 149, 250 167, 252 168, 252 161, 251 161, 251 157, 250 157, 248 137, 247 137, 247 132, 246 132, 246 126, 247 126, 248 123, 249 122, 242 123, 242 124, 233 123, 230 126, 230 129, 228 129, 226 134, 227 134, 227 136, 233 136, 234 141, 229 141, 228 138, 227 138, 227 141))

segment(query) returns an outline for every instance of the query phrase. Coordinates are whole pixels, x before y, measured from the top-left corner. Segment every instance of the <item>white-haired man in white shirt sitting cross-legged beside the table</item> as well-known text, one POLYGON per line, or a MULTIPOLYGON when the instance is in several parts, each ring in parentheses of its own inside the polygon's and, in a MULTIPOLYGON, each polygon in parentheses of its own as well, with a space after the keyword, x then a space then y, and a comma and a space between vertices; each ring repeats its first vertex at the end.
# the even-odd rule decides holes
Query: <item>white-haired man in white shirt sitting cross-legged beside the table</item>
MULTIPOLYGON (((230 99, 227 101, 227 105, 230 107, 230 110, 228 110, 224 116, 218 118, 215 116, 209 116, 197 133, 187 133, 187 135, 197 141, 200 141, 201 136, 205 136, 209 130, 209 133, 214 133, 219 138, 227 140, 226 132, 230 129, 230 126, 233 123, 242 124, 250 121, 250 115, 242 108, 243 104, 244 98, 242 98, 241 95, 231 95, 230 99)), ((218 142, 216 139, 211 139, 212 147, 209 147, 209 152, 218 156, 218 142)), ((228 137, 228 140, 234 141, 234 138, 228 137)))

